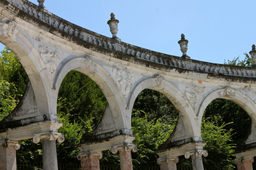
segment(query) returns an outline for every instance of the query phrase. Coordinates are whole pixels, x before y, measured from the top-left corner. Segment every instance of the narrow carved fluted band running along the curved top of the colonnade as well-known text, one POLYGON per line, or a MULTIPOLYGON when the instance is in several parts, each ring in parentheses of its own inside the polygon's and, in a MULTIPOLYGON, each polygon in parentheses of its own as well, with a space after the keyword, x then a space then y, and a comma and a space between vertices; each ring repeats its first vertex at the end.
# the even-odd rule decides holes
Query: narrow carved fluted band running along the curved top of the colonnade
MULTIPOLYGON (((71 22, 63 21, 59 17, 53 15, 48 11, 42 11, 31 7, 29 4, 20 0, 7 0, 10 4, 18 9, 26 12, 28 15, 50 25, 59 31, 65 32, 71 36, 77 37, 83 41, 89 42, 93 45, 106 48, 127 56, 135 57, 145 61, 151 61, 162 65, 182 68, 191 71, 198 71, 212 75, 236 76, 236 77, 250 77, 255 78, 256 71, 251 68, 229 66, 224 64, 214 64, 201 62, 191 59, 183 59, 177 56, 164 55, 156 53, 144 48, 136 47, 131 44, 109 39, 101 35, 96 35, 91 31, 75 27, 71 22)), ((9 8, 10 10, 10 8, 9 8)), ((14 11, 14 10, 13 10, 14 11)), ((14 11, 15 12, 15 11, 14 11)), ((38 27, 38 26, 37 26, 38 27)))

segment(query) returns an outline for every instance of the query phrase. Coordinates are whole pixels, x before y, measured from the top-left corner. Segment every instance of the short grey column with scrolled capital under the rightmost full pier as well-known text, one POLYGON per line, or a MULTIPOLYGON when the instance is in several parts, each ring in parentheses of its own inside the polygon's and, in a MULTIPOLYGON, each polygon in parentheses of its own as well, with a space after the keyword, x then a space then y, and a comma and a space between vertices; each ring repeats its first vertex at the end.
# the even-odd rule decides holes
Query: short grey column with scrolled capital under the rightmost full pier
POLYGON ((207 151, 198 150, 198 151, 186 152, 185 153, 185 158, 186 159, 188 159, 189 157, 191 157, 191 159, 192 159, 193 170, 203 170, 204 169, 202 155, 204 157, 208 156, 207 151))

